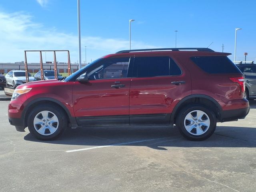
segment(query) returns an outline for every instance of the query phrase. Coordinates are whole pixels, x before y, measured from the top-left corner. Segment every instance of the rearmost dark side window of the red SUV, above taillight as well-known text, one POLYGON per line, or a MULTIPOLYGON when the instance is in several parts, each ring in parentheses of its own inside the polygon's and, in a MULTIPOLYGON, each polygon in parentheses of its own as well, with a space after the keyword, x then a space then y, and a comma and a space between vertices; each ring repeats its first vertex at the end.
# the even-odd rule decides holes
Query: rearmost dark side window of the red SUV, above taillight
POLYGON ((226 56, 199 56, 191 60, 207 73, 240 73, 237 66, 226 56))

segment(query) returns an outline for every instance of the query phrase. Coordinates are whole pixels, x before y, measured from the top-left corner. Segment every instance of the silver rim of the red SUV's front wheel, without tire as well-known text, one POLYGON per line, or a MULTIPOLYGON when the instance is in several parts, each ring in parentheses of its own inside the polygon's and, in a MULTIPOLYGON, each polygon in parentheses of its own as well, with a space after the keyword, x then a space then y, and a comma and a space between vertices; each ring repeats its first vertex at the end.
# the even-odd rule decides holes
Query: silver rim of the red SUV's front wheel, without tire
POLYGON ((41 135, 51 135, 58 129, 59 120, 50 111, 41 111, 34 118, 34 128, 41 135))

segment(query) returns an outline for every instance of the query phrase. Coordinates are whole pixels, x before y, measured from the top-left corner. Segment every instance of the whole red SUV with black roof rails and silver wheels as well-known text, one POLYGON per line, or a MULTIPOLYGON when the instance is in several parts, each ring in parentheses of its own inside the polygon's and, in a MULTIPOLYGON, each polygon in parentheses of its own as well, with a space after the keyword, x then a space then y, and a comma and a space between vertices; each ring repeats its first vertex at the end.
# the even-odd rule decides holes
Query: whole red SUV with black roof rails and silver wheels
POLYGON ((67 127, 174 125, 189 140, 210 137, 216 122, 245 118, 244 76, 228 53, 208 48, 124 50, 62 80, 18 86, 10 124, 40 140, 67 127))

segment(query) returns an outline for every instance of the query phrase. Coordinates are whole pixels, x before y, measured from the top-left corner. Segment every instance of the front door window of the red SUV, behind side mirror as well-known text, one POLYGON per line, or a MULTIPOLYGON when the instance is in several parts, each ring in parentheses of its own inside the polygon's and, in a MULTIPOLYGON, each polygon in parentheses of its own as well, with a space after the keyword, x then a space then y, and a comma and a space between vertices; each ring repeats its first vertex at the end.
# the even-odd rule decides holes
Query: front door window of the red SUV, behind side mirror
POLYGON ((100 66, 88 73, 90 80, 126 78, 130 58, 110 58, 102 60, 100 66))

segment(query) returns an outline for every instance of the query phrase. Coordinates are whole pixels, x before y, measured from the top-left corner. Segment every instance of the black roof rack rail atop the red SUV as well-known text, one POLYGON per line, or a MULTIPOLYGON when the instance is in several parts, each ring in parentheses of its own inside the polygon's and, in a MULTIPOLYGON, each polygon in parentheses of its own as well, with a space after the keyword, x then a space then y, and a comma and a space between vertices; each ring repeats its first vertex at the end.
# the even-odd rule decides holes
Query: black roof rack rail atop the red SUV
POLYGON ((131 52, 147 52, 147 51, 203 51, 203 52, 214 52, 209 48, 156 48, 156 49, 133 49, 133 50, 122 50, 116 53, 131 53, 131 52))

